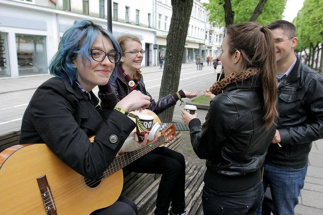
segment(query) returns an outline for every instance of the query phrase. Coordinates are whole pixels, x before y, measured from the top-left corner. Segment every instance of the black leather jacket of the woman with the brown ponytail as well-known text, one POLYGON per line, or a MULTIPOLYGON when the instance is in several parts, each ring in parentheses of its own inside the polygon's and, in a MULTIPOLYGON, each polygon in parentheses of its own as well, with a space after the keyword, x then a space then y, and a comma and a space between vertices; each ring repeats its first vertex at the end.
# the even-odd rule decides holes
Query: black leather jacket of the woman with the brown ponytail
POLYGON ((202 128, 199 119, 189 123, 193 149, 207 159, 204 183, 215 190, 243 191, 261 180, 260 167, 276 126, 264 126, 259 79, 229 84, 211 100, 202 128))

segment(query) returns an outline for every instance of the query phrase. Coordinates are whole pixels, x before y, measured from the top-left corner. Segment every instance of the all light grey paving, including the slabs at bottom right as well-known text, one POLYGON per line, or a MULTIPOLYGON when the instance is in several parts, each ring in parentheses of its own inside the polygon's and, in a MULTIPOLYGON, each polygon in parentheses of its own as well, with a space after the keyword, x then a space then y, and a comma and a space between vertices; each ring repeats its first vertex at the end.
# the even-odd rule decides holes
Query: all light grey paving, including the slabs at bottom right
MULTIPOLYGON (((204 66, 197 71, 195 64, 182 64, 179 89, 195 91, 209 88, 215 82, 212 66, 204 66)), ((218 67, 220 71, 220 67, 218 67)), ((161 83, 162 70, 159 67, 142 68, 147 91, 157 100, 161 83)), ((36 88, 49 79, 50 75, 22 77, 0 80, 0 135, 20 130, 21 118, 36 88)), ((95 93, 98 88, 94 88, 95 93)), ((200 95, 202 95, 200 93, 200 95)), ((187 99, 184 99, 184 101, 187 99)), ((173 122, 182 122, 182 107, 176 104, 173 122)), ((199 118, 204 122, 205 110, 197 110, 199 118)), ((296 207, 298 215, 323 215, 323 140, 313 143, 309 154, 309 167, 304 189, 299 197, 300 204, 296 207)))

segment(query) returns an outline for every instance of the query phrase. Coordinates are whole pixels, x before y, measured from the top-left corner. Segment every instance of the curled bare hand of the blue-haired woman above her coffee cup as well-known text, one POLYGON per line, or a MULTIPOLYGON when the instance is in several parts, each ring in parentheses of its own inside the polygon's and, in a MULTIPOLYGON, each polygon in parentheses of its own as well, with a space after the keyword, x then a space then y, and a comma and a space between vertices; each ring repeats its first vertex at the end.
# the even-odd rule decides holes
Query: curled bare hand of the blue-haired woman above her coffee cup
POLYGON ((117 106, 125 111, 145 110, 150 105, 150 97, 134 90, 117 103, 117 106))

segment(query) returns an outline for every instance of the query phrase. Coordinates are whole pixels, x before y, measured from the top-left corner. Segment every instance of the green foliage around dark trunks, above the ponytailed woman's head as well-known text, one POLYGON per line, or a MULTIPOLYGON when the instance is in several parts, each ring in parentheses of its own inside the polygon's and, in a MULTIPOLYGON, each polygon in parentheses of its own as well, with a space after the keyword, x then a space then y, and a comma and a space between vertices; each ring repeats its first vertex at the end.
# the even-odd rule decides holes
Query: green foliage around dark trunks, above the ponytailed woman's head
MULTIPOLYGON (((231 0, 234 23, 248 22, 258 2, 258 0, 231 0)), ((256 22, 266 25, 282 19, 286 2, 287 0, 267 0, 256 22)), ((210 23, 214 23, 215 26, 224 26, 224 0, 210 0, 204 5, 209 10, 210 23)))

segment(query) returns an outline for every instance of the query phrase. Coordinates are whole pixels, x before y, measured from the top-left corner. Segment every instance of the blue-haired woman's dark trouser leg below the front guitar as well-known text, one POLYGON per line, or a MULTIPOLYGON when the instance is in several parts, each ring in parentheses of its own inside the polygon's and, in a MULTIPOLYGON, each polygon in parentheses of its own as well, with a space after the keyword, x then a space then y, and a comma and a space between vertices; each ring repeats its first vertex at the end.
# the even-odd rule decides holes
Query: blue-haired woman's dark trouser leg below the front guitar
POLYGON ((119 199, 107 208, 93 211, 90 215, 138 215, 136 204, 125 196, 119 199))

